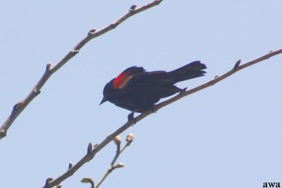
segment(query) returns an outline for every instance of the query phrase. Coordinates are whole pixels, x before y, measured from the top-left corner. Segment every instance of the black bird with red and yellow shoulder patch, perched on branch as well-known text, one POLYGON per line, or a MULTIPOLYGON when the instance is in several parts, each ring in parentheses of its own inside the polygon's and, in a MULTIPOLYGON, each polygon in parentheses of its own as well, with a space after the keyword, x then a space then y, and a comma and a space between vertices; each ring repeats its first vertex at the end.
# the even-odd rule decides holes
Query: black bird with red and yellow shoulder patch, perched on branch
POLYGON ((133 113, 142 113, 153 109, 160 99, 186 91, 187 88, 180 89, 174 84, 204 76, 206 68, 201 61, 170 72, 147 72, 143 67, 129 67, 105 85, 100 105, 109 101, 133 113))

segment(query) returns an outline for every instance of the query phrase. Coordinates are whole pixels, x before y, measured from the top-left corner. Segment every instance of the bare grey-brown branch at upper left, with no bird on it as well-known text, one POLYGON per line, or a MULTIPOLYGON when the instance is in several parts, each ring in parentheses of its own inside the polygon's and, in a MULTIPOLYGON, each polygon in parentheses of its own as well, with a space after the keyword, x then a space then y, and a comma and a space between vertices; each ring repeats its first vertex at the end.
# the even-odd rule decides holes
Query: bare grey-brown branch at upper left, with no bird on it
POLYGON ((43 87, 43 85, 47 82, 47 80, 50 78, 50 76, 55 73, 57 70, 59 70, 66 62, 68 62, 74 55, 76 55, 79 50, 91 39, 98 37, 118 26, 120 23, 125 21, 127 18, 142 12, 144 10, 147 10, 153 6, 156 6, 160 4, 163 0, 155 0, 151 3, 148 3, 146 5, 140 6, 136 8, 136 5, 131 6, 129 11, 122 15, 120 18, 118 18, 113 23, 109 24, 108 26, 105 26, 104 28, 96 31, 96 29, 92 29, 89 31, 89 33, 80 41, 70 52, 63 57, 58 63, 56 63, 54 66, 51 67, 51 63, 47 63, 46 71, 41 77, 41 79, 37 82, 35 87, 32 89, 32 91, 28 94, 28 96, 24 99, 18 102, 13 110, 11 115, 7 118, 7 120, 4 122, 4 124, 0 128, 0 140, 6 136, 7 130, 12 125, 14 120, 19 116, 19 114, 27 107, 27 105, 40 93, 40 89, 43 87))

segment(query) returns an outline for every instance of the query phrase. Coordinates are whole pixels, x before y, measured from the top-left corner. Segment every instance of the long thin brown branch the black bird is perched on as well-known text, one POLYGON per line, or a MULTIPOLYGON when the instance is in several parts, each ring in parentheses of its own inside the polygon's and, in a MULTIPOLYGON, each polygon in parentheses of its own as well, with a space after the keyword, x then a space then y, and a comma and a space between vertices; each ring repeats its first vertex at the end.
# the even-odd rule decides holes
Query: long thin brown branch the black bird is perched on
MULTIPOLYGON (((171 104, 172 102, 175 102, 179 99, 181 99, 182 97, 185 97, 187 95, 190 95, 192 93, 195 93, 197 91, 200 91, 204 88, 207 88, 209 86, 213 86, 214 84, 216 84, 217 82, 229 77, 230 75, 234 74, 235 72, 246 68, 248 66, 251 66, 255 63, 258 63, 260 61, 266 60, 272 56, 275 56, 277 54, 282 53, 282 49, 280 50, 276 50, 274 52, 270 52, 266 55, 263 55, 257 59, 254 59, 252 61, 246 62, 242 65, 239 66, 240 61, 237 61, 237 63, 235 64, 234 68, 230 71, 228 71, 227 73, 216 77, 213 80, 210 80, 209 82, 206 82, 200 86, 197 86, 195 88, 189 89, 188 91, 179 93, 177 96, 166 100, 164 102, 161 102, 157 105, 155 105, 154 107, 154 111, 157 111, 161 108, 163 108, 164 106, 167 106, 168 104, 171 104)), ((143 118, 147 117, 148 115, 150 115, 152 112, 152 110, 148 110, 143 112, 142 114, 140 114, 139 116, 137 116, 134 120, 130 120, 127 121, 123 126, 121 126, 119 129, 117 129, 115 132, 113 132, 112 134, 108 135, 105 140, 103 140, 98 146, 96 146, 94 149, 92 149, 91 153, 86 154, 77 164, 75 164, 72 168, 70 168, 67 172, 65 172, 64 174, 62 174, 60 177, 58 177, 57 179, 51 181, 49 183, 49 185, 45 185, 43 188, 47 188, 47 187, 53 187, 55 185, 57 185, 59 182, 62 182, 63 180, 67 179, 69 176, 71 176, 72 174, 74 174, 83 164, 85 164, 91 157, 95 156, 96 153, 98 153, 98 151, 100 151, 103 147, 105 147, 107 144, 109 144, 109 142, 111 142, 116 136, 120 135, 120 133, 124 132, 126 129, 128 129, 129 127, 131 127, 133 124, 135 124, 136 122, 142 120, 143 118)))

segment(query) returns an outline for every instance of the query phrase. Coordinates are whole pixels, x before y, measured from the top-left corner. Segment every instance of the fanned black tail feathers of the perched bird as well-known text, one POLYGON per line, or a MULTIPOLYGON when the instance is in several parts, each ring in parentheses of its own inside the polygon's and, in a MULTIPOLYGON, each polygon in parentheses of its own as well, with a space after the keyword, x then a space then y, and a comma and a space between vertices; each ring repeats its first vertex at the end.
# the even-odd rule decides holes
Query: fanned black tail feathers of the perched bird
POLYGON ((201 61, 194 61, 176 70, 167 72, 167 78, 175 84, 184 80, 204 76, 206 71, 203 71, 203 69, 206 68, 206 65, 202 64, 201 61))

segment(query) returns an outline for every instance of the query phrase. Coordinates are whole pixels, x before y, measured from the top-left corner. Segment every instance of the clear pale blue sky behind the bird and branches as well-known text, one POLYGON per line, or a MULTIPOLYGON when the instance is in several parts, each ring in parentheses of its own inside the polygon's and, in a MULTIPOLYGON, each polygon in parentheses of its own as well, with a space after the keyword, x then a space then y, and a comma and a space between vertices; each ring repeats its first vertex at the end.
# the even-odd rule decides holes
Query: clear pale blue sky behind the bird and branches
MULTIPOLYGON (((3 1, 0 8, 0 120, 91 28, 123 15, 126 1, 3 1)), ((193 88, 270 50, 282 48, 282 1, 169 1, 93 39, 54 73, 0 140, 0 187, 42 187, 127 121, 130 111, 99 106, 107 82, 130 66, 171 71, 200 60, 193 88)), ((160 109, 127 129, 135 140, 100 187, 262 187, 282 184, 282 54, 160 109)), ((114 143, 63 187, 90 187, 114 143)))

